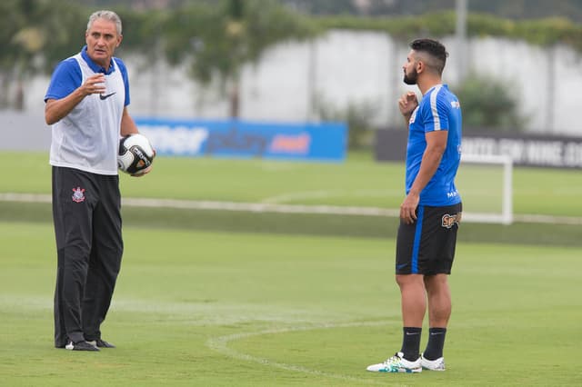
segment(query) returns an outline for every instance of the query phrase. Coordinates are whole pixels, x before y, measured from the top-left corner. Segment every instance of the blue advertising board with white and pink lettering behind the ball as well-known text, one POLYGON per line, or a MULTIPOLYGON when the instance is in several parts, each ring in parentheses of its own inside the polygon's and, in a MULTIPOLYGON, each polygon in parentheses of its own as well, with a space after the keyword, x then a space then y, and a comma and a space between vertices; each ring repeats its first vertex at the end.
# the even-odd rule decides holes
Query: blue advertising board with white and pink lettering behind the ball
POLYGON ((138 118, 135 124, 157 154, 327 162, 346 158, 347 127, 342 123, 138 118))

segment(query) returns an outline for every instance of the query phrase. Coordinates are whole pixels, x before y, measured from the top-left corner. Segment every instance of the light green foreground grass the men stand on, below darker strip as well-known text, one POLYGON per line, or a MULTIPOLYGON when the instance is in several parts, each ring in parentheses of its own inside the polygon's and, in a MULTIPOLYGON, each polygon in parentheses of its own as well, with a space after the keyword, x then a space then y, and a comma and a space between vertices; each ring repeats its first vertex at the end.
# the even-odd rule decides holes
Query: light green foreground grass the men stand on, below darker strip
MULTIPOLYGON (((0 379, 63 385, 580 385, 582 249, 460 243, 447 372, 374 374, 401 343, 392 239, 125 229, 103 326, 52 348, 49 223, 0 223, 0 379)), ((424 345, 425 341, 423 341, 424 345)))

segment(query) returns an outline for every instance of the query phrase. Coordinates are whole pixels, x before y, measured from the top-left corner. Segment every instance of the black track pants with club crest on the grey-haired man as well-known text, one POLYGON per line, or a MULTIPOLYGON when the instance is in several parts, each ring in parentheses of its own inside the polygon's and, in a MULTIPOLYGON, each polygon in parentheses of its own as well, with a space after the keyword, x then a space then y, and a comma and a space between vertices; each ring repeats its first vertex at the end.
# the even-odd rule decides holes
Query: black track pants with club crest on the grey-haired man
POLYGON ((121 265, 117 175, 53 167, 55 346, 101 337, 121 265))

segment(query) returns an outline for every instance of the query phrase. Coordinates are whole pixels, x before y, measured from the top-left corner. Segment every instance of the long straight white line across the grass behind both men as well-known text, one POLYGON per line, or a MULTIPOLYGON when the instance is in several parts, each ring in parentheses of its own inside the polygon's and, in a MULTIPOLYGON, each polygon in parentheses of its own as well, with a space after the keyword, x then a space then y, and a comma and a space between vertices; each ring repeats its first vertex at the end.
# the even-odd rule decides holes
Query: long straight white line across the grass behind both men
MULTIPOLYGON (((51 203, 50 194, 42 193, 0 193, 0 202, 51 203)), ((366 215, 397 217, 395 208, 353 207, 338 205, 303 205, 274 203, 238 203, 177 199, 124 198, 122 205, 128 207, 175 208, 190 210, 221 210, 251 213, 325 213, 332 215, 366 215)), ((582 225, 582 218, 575 216, 552 216, 514 213, 517 223, 547 223, 582 225)), ((466 218, 467 219, 467 218, 466 218)))

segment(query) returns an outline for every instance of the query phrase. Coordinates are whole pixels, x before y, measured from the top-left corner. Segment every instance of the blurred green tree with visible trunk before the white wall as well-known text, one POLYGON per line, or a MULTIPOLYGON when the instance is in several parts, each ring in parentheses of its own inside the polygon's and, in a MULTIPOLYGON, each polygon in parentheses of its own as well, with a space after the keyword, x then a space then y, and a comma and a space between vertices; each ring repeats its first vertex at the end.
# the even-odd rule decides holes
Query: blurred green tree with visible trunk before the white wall
POLYGON ((229 114, 239 115, 240 72, 266 49, 315 30, 276 0, 225 0, 217 6, 187 5, 166 21, 165 50, 171 64, 189 62, 203 85, 217 80, 228 94, 229 114))

